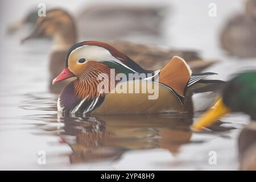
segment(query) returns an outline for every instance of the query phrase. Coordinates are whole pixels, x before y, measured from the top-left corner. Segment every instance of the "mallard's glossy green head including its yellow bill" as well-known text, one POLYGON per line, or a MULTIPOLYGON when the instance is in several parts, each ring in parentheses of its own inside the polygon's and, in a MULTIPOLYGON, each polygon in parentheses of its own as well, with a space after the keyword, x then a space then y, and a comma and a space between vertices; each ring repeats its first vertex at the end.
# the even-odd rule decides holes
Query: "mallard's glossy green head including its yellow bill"
POLYGON ((199 131, 230 111, 242 111, 256 120, 256 72, 246 72, 228 81, 222 98, 192 127, 199 131))

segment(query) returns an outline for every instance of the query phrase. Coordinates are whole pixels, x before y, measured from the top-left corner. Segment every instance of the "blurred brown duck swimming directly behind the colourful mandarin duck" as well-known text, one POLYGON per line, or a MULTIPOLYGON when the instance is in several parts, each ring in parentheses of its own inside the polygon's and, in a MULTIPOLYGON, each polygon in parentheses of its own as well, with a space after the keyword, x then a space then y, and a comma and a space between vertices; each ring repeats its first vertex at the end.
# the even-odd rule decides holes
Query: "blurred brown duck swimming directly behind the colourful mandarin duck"
MULTIPOLYGON (((138 11, 139 9, 136 10, 138 11)), ((122 11, 118 12, 122 14, 122 11)), ((147 14, 145 14, 145 16, 146 15, 147 14)), ((88 27, 91 26, 89 23, 84 24, 87 26, 85 30, 88 30, 88 27)), ((23 42, 28 39, 42 38, 44 36, 49 36, 53 39, 51 56, 49 59, 51 80, 63 70, 63 60, 65 60, 65 55, 68 49, 77 42, 76 28, 75 20, 69 13, 67 13, 67 11, 62 9, 53 9, 47 11, 47 16, 39 17, 36 22, 35 30, 30 36, 23 39, 23 42)), ((106 38, 109 38, 109 36, 105 34, 106 28, 96 29, 95 31, 99 30, 104 30, 104 34, 102 34, 102 31, 100 31, 101 34, 104 36, 106 35, 106 38)), ((121 31, 120 28, 118 31, 121 31)), ((143 32, 143 30, 141 30, 141 32, 143 32)), ((87 33, 84 32, 84 34, 87 33)), ((118 38, 118 36, 115 38, 118 38)), ((131 59, 135 60, 138 64, 142 65, 142 67, 146 69, 159 69, 168 63, 170 57, 175 55, 184 57, 184 59, 188 61, 188 64, 191 66, 193 72, 200 72, 202 69, 215 63, 215 61, 201 60, 197 52, 193 51, 180 51, 175 49, 170 50, 146 44, 135 44, 122 40, 112 41, 109 43, 114 47, 118 47, 121 52, 131 57, 131 59)), ((58 93, 63 85, 59 84, 57 87, 50 85, 50 89, 52 92, 58 93)))

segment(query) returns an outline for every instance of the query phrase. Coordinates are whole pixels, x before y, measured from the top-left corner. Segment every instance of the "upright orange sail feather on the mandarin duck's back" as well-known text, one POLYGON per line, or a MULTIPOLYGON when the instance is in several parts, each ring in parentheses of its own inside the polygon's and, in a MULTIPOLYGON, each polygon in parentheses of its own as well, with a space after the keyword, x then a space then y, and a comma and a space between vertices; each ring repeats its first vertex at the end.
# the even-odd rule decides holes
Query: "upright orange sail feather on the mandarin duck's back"
POLYGON ((160 71, 159 82, 169 86, 184 97, 185 88, 191 74, 188 64, 180 57, 174 56, 160 71))

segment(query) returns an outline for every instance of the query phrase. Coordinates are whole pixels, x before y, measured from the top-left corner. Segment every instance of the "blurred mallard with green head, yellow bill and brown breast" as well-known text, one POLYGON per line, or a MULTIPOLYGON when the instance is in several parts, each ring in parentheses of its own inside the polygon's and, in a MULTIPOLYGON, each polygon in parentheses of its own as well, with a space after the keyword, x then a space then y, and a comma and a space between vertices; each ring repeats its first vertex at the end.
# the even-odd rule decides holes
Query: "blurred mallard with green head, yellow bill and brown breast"
POLYGON ((216 107, 204 114, 192 128, 199 131, 230 111, 249 114, 251 120, 254 121, 242 130, 238 138, 238 151, 240 152, 241 169, 256 170, 256 72, 241 73, 230 80, 216 107))

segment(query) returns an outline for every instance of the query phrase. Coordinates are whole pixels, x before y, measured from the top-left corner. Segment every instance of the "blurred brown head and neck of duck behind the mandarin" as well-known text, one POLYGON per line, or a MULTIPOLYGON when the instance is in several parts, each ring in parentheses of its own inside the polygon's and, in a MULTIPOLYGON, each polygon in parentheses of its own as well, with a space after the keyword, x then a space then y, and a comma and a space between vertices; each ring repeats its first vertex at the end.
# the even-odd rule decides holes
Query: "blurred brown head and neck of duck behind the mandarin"
MULTIPOLYGON (((35 30, 22 42, 32 38, 50 37, 53 39, 51 55, 49 57, 50 79, 54 78, 64 67, 63 60, 67 50, 77 42, 75 20, 66 11, 54 9, 47 12, 47 16, 39 17, 36 21, 35 30)), ((53 93, 58 93, 64 86, 51 86, 53 93)))

